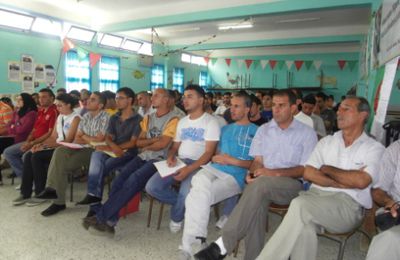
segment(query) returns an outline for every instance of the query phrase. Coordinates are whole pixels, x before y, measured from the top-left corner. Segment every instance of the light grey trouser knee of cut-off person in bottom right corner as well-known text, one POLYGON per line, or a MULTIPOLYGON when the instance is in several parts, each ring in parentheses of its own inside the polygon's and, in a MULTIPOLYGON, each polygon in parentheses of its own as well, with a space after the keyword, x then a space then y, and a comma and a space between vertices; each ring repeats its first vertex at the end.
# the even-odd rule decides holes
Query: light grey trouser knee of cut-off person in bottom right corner
POLYGON ((366 260, 400 259, 400 225, 394 226, 372 239, 366 260))

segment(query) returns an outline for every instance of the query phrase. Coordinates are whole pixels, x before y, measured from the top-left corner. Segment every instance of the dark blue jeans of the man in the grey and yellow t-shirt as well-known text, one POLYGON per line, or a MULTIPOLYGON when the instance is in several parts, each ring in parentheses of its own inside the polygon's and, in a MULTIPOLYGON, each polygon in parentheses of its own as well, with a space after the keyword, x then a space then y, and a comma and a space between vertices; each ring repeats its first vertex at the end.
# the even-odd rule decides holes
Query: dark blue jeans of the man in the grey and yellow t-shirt
POLYGON ((113 181, 108 200, 94 209, 99 222, 113 226, 118 222, 119 211, 144 189, 147 181, 157 171, 154 162, 155 160, 144 161, 136 156, 124 166, 113 181))

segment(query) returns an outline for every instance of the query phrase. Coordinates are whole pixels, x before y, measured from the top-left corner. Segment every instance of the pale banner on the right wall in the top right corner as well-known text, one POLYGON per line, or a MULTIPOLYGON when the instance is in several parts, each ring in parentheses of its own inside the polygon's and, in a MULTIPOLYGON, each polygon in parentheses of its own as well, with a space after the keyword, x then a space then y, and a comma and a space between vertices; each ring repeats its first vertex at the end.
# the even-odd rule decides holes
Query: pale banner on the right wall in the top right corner
MULTIPOLYGON (((400 55, 400 1, 383 0, 376 19, 380 18, 379 28, 375 28, 380 39, 377 46, 379 65, 400 55), (380 15, 381 14, 381 15, 380 15), (378 17, 381 16, 381 17, 378 17)), ((375 23, 377 24, 377 23, 375 23)))

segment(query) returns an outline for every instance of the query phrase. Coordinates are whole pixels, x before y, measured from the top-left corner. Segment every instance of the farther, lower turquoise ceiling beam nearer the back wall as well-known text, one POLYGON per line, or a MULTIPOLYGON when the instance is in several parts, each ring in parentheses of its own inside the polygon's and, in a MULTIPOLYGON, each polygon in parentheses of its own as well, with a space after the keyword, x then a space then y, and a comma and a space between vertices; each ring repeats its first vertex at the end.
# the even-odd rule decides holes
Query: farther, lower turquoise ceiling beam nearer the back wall
MULTIPOLYGON (((217 50, 217 49, 233 49, 233 48, 251 48, 251 47, 268 47, 282 45, 304 45, 304 44, 324 44, 324 43, 359 43, 364 35, 340 35, 340 36, 320 36, 320 37, 304 37, 304 38, 287 38, 287 39, 269 39, 257 41, 241 41, 241 42, 223 42, 223 43, 204 43, 186 48, 185 51, 200 50, 217 50)), ((185 45, 171 45, 170 50, 184 48, 185 45)))

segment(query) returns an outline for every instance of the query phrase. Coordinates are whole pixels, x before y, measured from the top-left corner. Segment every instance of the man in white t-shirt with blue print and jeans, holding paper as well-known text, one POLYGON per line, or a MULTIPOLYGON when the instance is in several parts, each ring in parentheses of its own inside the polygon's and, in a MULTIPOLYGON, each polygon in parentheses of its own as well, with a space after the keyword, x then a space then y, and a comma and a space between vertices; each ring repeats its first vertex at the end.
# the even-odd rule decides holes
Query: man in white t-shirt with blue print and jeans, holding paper
POLYGON ((185 88, 183 105, 188 115, 177 126, 176 136, 168 151, 167 163, 173 167, 179 157, 186 166, 174 175, 162 178, 154 174, 146 185, 146 192, 156 199, 172 205, 170 230, 177 233, 182 227, 185 199, 192 177, 214 155, 220 136, 220 127, 214 116, 204 112, 204 90, 198 85, 185 88), (171 188, 180 182, 179 191, 171 188))

